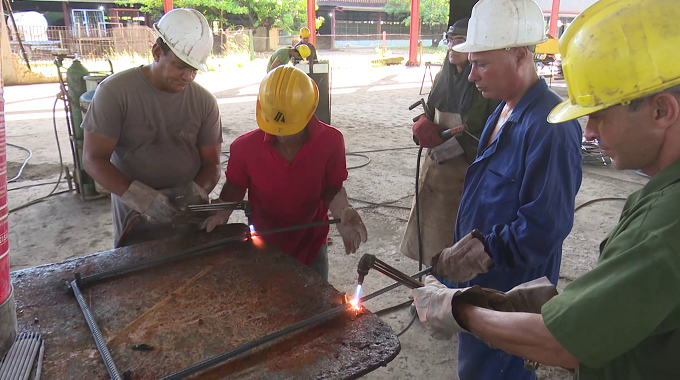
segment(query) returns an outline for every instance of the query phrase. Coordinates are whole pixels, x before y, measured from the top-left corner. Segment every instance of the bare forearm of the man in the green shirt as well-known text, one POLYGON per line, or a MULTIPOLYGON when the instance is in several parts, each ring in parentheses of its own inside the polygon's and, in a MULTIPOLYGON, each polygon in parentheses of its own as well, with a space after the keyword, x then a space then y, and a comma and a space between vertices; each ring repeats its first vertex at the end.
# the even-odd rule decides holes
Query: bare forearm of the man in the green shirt
POLYGON ((550 333, 540 314, 505 313, 469 304, 456 311, 459 322, 494 348, 545 365, 570 369, 579 365, 550 333))

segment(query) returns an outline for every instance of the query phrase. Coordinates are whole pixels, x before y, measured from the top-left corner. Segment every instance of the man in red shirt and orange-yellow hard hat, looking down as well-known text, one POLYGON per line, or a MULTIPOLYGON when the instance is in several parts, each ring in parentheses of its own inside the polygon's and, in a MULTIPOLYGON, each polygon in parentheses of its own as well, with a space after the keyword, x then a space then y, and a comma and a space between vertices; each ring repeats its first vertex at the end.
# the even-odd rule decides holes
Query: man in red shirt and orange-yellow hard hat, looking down
MULTIPOLYGON (((342 133, 320 122, 316 84, 301 70, 280 66, 260 84, 259 129, 231 144, 227 182, 218 202, 238 202, 248 192, 255 230, 288 227, 341 218, 338 232, 346 253, 366 242, 359 213, 349 204, 342 184, 347 179, 342 133)), ((229 220, 220 211, 204 223, 208 232, 229 220)), ((328 226, 307 228, 263 239, 311 267, 328 280, 328 226)))

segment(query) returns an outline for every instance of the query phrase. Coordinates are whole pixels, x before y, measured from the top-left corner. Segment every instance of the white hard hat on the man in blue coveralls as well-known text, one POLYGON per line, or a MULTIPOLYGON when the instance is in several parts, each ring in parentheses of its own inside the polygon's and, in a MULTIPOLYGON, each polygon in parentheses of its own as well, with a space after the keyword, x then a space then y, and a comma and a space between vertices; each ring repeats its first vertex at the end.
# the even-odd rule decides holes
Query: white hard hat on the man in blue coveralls
POLYGON ((476 53, 547 41, 541 7, 533 0, 480 0, 472 8, 467 41, 453 47, 476 53))

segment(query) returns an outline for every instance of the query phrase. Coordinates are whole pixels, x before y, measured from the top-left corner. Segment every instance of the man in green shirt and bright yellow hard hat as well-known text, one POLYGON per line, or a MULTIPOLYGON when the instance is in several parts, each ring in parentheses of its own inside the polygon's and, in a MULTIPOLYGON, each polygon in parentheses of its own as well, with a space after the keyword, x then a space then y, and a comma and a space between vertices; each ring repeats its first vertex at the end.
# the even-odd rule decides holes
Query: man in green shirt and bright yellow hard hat
POLYGON ((628 197, 595 269, 542 308, 536 299, 534 314, 428 278, 414 296, 431 332, 471 332, 576 379, 680 378, 679 19, 677 0, 600 0, 560 41, 569 100, 549 121, 588 116, 586 138, 618 169, 652 177, 628 197))

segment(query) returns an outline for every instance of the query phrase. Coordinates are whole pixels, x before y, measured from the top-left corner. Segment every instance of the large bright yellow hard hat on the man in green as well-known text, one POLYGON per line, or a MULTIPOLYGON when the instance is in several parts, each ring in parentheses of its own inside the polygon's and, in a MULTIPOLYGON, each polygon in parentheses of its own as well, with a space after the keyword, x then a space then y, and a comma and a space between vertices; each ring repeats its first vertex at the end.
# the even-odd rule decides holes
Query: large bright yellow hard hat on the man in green
POLYGON ((569 100, 550 112, 561 123, 680 84, 677 0, 600 0, 560 40, 569 100))

